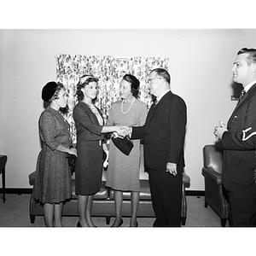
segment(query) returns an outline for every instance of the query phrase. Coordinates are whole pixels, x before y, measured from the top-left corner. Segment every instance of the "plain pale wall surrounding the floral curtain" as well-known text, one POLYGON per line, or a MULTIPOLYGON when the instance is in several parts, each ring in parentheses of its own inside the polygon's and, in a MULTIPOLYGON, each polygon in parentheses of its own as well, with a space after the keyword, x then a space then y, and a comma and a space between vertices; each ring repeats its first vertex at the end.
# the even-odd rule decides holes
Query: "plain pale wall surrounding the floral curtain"
POLYGON ((172 91, 188 108, 185 172, 204 190, 202 148, 236 106, 232 63, 255 48, 256 30, 0 30, 0 154, 8 155, 7 188, 31 188, 40 141, 41 90, 56 78, 55 55, 166 56, 172 91))

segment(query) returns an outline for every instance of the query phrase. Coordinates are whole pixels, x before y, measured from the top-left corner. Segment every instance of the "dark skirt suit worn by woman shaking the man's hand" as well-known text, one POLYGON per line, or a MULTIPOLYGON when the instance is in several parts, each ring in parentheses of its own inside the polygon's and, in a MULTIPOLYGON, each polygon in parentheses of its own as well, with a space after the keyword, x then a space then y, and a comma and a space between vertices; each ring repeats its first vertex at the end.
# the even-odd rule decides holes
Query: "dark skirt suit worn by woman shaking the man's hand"
POLYGON ((102 184, 102 127, 100 110, 79 102, 73 109, 77 130, 76 194, 93 195, 102 184))

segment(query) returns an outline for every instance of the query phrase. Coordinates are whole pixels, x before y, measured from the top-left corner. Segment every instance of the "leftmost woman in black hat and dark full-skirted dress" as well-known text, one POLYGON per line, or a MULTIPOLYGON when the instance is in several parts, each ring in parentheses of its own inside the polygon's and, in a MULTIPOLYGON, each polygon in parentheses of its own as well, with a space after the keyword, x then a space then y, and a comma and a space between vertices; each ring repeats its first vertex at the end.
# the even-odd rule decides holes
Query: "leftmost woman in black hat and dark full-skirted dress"
POLYGON ((67 155, 77 155, 72 144, 69 125, 60 108, 67 105, 63 84, 49 82, 42 90, 42 99, 49 107, 39 118, 39 136, 42 150, 38 155, 35 196, 44 206, 47 227, 61 227, 63 202, 71 197, 71 172, 67 155))

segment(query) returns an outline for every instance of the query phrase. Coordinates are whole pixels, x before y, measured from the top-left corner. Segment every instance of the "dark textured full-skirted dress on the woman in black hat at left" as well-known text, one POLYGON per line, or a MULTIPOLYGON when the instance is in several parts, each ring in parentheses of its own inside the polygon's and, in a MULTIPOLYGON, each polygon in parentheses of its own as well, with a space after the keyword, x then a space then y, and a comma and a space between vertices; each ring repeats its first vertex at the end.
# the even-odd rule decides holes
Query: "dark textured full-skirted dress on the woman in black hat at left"
POLYGON ((67 153, 56 150, 72 143, 69 125, 59 111, 46 108, 39 118, 42 150, 38 155, 35 196, 42 203, 60 203, 71 197, 71 172, 67 153))

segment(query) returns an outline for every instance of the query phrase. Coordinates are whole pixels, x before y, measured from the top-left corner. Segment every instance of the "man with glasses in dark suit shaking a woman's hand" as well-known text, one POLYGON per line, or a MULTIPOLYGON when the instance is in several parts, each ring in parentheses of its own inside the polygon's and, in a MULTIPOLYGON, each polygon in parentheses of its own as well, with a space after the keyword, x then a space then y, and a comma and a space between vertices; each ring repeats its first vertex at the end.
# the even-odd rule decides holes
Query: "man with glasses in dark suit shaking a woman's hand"
POLYGON ((156 102, 149 109, 145 125, 130 128, 131 139, 144 139, 145 168, 156 216, 154 227, 181 226, 187 108, 183 99, 170 90, 170 80, 165 69, 149 73, 148 84, 156 102))

